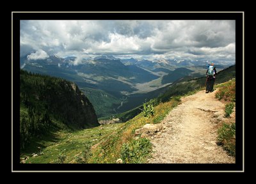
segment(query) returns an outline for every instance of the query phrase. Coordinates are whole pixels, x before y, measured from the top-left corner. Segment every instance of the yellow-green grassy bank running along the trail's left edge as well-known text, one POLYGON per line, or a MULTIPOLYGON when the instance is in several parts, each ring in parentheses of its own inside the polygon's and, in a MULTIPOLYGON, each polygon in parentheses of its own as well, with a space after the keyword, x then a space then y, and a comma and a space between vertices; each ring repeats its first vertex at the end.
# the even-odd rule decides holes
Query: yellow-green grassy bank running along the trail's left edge
POLYGON ((145 160, 150 157, 149 143, 145 139, 136 140, 135 130, 147 123, 159 123, 179 102, 180 97, 173 97, 169 102, 154 107, 152 116, 145 117, 141 112, 124 123, 116 132, 109 135, 99 148, 93 150, 92 163, 116 163, 118 158, 124 159, 123 163, 146 162, 145 160))

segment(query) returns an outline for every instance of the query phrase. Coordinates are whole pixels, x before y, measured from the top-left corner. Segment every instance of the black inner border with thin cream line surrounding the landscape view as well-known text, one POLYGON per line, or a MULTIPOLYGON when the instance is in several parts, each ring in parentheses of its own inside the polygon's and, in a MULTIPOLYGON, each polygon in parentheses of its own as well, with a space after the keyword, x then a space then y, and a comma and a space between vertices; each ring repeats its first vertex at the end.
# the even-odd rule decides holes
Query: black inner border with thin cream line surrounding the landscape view
POLYGON ((243 172, 244 11, 237 12, 12 12, 12 172, 243 172), (20 20, 236 20, 236 164, 20 164, 20 20))

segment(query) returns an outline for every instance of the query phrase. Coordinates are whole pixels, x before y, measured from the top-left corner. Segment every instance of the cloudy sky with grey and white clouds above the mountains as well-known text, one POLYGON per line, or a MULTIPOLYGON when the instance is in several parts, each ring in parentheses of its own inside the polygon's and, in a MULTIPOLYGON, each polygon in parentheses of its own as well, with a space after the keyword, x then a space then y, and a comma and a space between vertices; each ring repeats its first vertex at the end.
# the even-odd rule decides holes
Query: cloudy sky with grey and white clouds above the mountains
POLYGON ((236 61, 235 20, 20 20, 20 56, 236 61))

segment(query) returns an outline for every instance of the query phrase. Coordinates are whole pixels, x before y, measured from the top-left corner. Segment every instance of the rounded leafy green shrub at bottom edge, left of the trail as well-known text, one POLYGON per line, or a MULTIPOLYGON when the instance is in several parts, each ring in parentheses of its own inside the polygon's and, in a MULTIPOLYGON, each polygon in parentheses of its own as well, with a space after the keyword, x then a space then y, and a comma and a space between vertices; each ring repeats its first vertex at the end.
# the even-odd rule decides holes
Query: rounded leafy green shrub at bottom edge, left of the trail
POLYGON ((122 146, 121 158, 125 164, 139 164, 145 162, 152 150, 151 142, 146 138, 133 140, 122 146))

